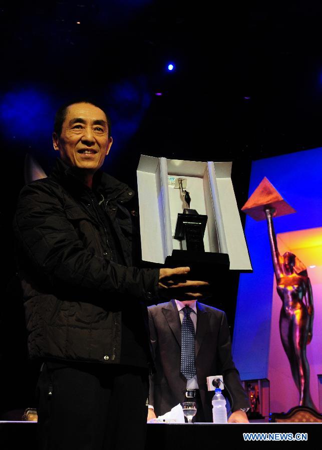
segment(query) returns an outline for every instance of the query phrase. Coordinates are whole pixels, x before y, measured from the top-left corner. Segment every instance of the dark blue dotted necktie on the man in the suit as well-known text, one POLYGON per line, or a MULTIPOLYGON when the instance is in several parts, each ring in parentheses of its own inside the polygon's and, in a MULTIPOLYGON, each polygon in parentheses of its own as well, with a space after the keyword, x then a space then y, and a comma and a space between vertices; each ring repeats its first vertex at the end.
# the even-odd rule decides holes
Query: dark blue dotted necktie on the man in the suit
POLYGON ((182 310, 184 312, 184 317, 181 325, 180 371, 186 379, 190 379, 196 374, 194 326, 190 317, 191 308, 189 306, 185 306, 182 310))

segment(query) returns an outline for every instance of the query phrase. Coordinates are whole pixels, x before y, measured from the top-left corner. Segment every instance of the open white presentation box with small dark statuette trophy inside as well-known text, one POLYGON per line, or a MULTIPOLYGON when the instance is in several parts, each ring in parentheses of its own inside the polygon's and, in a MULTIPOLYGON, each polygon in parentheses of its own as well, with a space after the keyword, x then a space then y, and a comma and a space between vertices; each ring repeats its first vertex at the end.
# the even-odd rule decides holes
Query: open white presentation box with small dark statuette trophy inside
POLYGON ((191 279, 251 271, 231 162, 141 155, 137 169, 142 260, 189 266, 191 279))

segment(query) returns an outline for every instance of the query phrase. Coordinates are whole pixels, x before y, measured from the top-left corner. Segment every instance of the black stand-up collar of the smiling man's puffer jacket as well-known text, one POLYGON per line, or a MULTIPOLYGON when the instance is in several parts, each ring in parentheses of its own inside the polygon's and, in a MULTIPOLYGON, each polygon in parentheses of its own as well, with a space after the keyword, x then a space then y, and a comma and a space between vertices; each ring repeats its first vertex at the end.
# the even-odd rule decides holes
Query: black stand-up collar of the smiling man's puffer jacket
POLYGON ((103 170, 98 170, 93 176, 93 188, 90 189, 75 176, 75 168, 67 165, 61 158, 56 159, 54 169, 50 175, 58 180, 74 194, 82 196, 86 192, 96 191, 103 194, 106 200, 117 198, 122 203, 132 200, 135 195, 133 189, 103 170))

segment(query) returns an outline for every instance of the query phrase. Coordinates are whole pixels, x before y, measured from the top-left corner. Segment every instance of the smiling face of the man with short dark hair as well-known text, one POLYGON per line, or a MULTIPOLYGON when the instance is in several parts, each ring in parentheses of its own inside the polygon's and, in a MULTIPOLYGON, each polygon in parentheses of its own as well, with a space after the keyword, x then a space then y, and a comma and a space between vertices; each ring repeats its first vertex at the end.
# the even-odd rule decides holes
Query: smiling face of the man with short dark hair
POLYGON ((91 173, 101 167, 112 142, 105 112, 91 103, 68 106, 61 135, 53 134, 54 148, 63 161, 91 173))

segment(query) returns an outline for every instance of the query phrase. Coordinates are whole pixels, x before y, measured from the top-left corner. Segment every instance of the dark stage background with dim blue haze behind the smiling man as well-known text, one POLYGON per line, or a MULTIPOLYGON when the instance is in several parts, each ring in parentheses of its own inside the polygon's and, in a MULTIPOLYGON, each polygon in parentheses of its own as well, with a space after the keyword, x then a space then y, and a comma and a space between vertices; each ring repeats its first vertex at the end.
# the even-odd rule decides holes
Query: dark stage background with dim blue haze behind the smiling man
MULTIPOLYGON (((26 153, 47 173, 56 158, 55 109, 71 97, 107 105, 104 169, 133 188, 141 153, 232 160, 241 207, 251 160, 322 145, 321 19, 317 0, 2 2, 0 419, 34 405, 11 222, 26 153)), ((232 332, 237 285, 230 273, 212 301, 232 332)))

